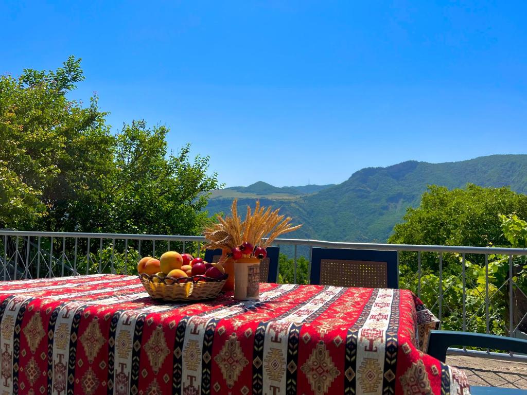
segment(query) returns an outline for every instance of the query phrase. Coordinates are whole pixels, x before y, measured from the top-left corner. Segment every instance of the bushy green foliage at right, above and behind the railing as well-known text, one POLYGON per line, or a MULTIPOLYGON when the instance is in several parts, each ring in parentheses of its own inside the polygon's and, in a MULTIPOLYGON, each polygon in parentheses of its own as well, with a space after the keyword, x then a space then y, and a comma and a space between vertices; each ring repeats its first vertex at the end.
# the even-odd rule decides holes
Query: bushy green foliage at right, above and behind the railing
MULTIPOLYGON (((433 245, 499 245, 524 248, 527 222, 515 212, 527 216, 527 196, 508 188, 483 188, 467 185, 466 189, 448 190, 431 186, 423 195, 421 205, 408 209, 405 222, 395 226, 391 243, 433 245)), ((514 256, 513 280, 515 287, 527 291, 527 265, 524 256, 514 256)), ((443 254, 443 329, 463 329, 463 257, 443 254)), ((422 253, 421 289, 418 289, 416 253, 399 255, 399 277, 402 288, 419 292, 421 299, 438 314, 440 275, 438 256, 422 253)), ((489 279, 489 330, 507 334, 509 330, 509 255, 488 255, 488 269, 484 255, 465 256, 466 330, 486 331, 486 279, 489 279), (487 271, 488 270, 488 271, 487 271)), ((516 290, 514 290, 516 292, 516 290)), ((514 309, 518 307, 514 305, 514 309)), ((520 314, 520 317, 523 313, 520 314)), ((516 322, 517 324, 517 322, 516 322)))

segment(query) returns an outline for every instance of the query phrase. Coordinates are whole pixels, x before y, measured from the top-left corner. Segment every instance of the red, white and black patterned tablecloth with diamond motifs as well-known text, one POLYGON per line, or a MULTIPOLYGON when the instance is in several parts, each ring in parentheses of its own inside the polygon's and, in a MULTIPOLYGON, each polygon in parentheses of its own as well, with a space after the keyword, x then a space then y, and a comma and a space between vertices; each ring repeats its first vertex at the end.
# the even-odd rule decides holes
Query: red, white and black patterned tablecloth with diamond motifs
POLYGON ((411 291, 260 290, 165 304, 135 276, 0 282, 0 394, 469 393, 419 350, 436 322, 411 291))

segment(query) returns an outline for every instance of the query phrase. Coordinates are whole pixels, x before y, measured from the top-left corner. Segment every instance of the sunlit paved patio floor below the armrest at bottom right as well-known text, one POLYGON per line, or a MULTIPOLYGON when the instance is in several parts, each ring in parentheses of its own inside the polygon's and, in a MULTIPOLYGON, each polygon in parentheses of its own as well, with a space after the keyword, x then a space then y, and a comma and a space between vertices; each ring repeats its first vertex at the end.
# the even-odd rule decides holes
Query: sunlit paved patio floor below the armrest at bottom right
POLYGON ((527 390, 527 363, 465 356, 447 356, 446 363, 463 369, 471 386, 527 390))

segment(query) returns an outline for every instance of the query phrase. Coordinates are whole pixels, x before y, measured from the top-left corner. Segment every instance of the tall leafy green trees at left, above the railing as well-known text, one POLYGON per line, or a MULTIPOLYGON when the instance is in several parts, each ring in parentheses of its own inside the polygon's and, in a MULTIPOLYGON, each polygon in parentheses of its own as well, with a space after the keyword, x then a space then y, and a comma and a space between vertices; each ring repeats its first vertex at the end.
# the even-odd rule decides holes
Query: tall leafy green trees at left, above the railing
POLYGON ((96 96, 67 98, 80 62, 0 77, 0 228, 198 234, 220 187, 209 158, 169 153, 168 129, 144 121, 112 134, 96 96))

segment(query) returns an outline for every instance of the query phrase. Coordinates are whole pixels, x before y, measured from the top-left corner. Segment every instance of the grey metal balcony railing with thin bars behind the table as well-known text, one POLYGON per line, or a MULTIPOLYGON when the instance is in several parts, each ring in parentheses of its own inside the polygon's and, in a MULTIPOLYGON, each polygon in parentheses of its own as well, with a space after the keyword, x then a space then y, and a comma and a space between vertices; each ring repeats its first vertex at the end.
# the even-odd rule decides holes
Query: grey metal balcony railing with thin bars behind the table
MULTIPOLYGON (((159 256, 171 249, 196 255, 203 242, 202 236, 0 230, 0 280, 128 274, 135 270, 141 256, 159 256)), ((294 266, 293 282, 297 282, 300 256, 309 262, 309 278, 313 247, 395 250, 399 286, 412 289, 447 329, 524 336, 521 329, 527 327, 527 290, 518 283, 518 273, 527 270, 527 249, 300 239, 277 239, 274 245, 280 246, 280 252, 290 258, 294 266), (505 273, 503 268, 500 273, 495 271, 497 257, 508 263, 505 273), (480 275, 475 276, 475 272, 480 275)), ((522 358, 489 350, 451 351, 522 358)))

